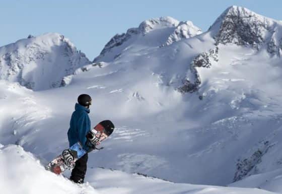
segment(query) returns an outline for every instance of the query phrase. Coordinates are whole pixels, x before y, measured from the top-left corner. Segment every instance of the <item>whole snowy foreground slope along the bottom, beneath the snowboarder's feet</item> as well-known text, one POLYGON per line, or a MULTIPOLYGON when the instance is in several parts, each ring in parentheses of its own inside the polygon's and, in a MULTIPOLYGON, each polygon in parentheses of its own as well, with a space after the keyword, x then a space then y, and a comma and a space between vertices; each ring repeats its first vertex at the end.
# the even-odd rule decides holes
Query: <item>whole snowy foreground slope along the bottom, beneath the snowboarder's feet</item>
POLYGON ((172 183, 157 178, 144 177, 138 174, 127 174, 120 171, 94 168, 89 169, 89 182, 77 185, 63 176, 46 171, 39 160, 27 153, 20 146, 0 147, 1 193, 73 193, 73 194, 180 194, 180 193, 238 193, 267 194, 273 193, 257 188, 235 188, 172 183), (13 166, 7 170, 7 166, 13 166), (19 176, 20 174, 20 176, 19 176), (95 189, 94 189, 94 188, 95 189))

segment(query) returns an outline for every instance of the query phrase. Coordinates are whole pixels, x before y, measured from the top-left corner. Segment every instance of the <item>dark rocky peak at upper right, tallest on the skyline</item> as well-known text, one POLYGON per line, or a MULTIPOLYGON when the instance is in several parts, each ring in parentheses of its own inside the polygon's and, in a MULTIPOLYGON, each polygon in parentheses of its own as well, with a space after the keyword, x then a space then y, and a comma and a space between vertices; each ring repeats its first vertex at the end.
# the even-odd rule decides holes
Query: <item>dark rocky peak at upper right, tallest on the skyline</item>
POLYGON ((226 9, 209 28, 216 44, 260 47, 271 35, 277 21, 239 6, 226 9))

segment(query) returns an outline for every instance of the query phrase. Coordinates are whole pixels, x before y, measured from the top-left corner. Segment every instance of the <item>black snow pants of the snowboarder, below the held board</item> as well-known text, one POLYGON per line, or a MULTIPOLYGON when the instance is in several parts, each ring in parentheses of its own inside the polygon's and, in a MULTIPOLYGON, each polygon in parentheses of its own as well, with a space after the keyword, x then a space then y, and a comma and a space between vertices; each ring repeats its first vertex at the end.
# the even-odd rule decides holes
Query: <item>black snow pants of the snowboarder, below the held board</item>
POLYGON ((70 180, 80 183, 84 181, 84 177, 87 169, 87 160, 88 160, 88 153, 86 153, 83 157, 81 157, 78 161, 76 161, 76 166, 73 169, 72 175, 69 178, 70 180))

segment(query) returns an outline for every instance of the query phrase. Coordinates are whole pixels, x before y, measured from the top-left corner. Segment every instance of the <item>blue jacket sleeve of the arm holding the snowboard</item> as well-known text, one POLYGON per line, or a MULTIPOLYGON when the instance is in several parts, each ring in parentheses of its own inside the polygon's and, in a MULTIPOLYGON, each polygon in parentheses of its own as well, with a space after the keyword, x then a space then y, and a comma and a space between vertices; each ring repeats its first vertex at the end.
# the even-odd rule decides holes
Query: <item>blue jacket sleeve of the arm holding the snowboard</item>
POLYGON ((79 141, 81 142, 84 149, 88 150, 86 146, 86 134, 90 130, 90 119, 87 114, 82 114, 78 119, 78 134, 79 141))

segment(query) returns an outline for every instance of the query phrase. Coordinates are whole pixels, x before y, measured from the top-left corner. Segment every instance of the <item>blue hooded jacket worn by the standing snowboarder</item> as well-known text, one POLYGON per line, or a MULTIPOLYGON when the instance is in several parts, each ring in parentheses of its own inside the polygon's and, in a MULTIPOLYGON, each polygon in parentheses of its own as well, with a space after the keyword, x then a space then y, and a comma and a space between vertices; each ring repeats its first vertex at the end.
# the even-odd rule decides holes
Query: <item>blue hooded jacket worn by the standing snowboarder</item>
POLYGON ((89 112, 89 109, 76 103, 76 110, 72 114, 67 132, 69 147, 77 142, 81 142, 83 148, 88 150, 86 146, 86 134, 91 129, 91 122, 88 116, 89 112))

